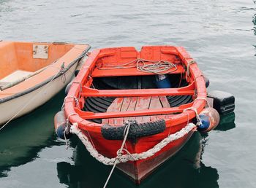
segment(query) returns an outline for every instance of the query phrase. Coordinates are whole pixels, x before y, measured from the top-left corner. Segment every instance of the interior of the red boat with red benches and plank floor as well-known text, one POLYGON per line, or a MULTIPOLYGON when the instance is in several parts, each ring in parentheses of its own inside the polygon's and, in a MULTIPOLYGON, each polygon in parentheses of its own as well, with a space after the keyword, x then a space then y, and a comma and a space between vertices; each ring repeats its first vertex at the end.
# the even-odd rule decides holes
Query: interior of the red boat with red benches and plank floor
POLYGON ((102 54, 104 55, 97 59, 96 66, 91 72, 93 82, 85 84, 90 89, 87 88, 82 92, 86 98, 83 111, 94 112, 94 116, 91 117, 84 113, 85 119, 117 126, 123 125, 124 121, 129 119, 143 123, 168 119, 174 114, 181 113, 184 108, 192 106, 195 85, 193 82, 186 81, 186 66, 174 47, 143 47, 140 52, 134 48, 117 48, 112 51, 107 49, 102 54), (150 60, 165 60, 174 63, 176 69, 173 68, 173 71, 165 74, 171 88, 159 87, 157 85, 158 75, 153 72, 138 71, 137 65, 120 67, 137 58, 143 58, 146 63, 150 60), (176 90, 178 88, 180 90, 176 90), (174 92, 173 95, 172 92, 174 92), (184 108, 179 109, 180 106, 184 108), (157 113, 157 109, 173 110, 170 110, 170 113, 160 114, 160 112, 157 113), (155 112, 149 115, 149 111, 155 112), (131 114, 134 116, 131 117, 131 114))

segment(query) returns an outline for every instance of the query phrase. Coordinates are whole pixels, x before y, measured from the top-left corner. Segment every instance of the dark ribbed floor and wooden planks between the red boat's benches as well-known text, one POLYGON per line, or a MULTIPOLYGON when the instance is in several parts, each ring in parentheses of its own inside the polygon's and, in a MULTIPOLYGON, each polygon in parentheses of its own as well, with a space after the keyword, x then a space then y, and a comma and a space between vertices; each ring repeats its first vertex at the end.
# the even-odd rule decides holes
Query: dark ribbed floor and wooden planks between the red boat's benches
MULTIPOLYGON (((173 88, 187 86, 185 79, 180 74, 170 74, 173 88)), ((93 86, 97 90, 129 90, 129 89, 156 89, 156 76, 132 76, 132 77, 102 77, 94 79, 93 86)), ((166 96, 138 96, 138 97, 88 97, 86 98, 84 111, 94 113, 110 111, 139 111, 146 109, 162 109, 177 107, 192 102, 192 95, 166 95, 166 96)), ((175 113, 172 113, 175 114, 175 113)), ((149 122, 163 117, 171 117, 170 114, 162 116, 135 117, 138 122, 149 122)), ((94 119, 93 122, 108 123, 110 125, 122 125, 130 118, 94 119)))

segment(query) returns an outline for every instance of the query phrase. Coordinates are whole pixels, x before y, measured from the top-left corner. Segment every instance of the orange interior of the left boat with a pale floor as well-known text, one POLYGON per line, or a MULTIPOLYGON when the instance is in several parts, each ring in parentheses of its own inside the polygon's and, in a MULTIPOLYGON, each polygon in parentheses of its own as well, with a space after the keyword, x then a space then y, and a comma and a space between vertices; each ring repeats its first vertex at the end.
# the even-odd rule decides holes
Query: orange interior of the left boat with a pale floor
POLYGON ((45 68, 73 46, 61 43, 0 42, 0 87, 45 68))

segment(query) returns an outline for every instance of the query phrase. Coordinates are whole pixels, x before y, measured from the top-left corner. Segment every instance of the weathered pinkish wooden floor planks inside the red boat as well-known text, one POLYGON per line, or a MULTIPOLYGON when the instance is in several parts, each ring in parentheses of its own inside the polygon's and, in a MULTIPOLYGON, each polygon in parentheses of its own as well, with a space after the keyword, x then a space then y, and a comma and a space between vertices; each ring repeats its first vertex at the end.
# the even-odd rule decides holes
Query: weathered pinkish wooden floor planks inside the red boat
MULTIPOLYGON (((170 103, 168 103, 165 96, 148 96, 148 97, 124 97, 116 98, 113 103, 108 107, 107 111, 137 111, 145 109, 161 109, 170 108, 170 103)), ((165 115, 154 115, 154 116, 143 116, 143 117, 118 117, 103 119, 102 124, 109 124, 113 126, 123 125, 126 120, 136 120, 138 123, 142 122, 152 122, 156 120, 161 120, 163 118, 168 118, 173 116, 173 114, 165 115)))

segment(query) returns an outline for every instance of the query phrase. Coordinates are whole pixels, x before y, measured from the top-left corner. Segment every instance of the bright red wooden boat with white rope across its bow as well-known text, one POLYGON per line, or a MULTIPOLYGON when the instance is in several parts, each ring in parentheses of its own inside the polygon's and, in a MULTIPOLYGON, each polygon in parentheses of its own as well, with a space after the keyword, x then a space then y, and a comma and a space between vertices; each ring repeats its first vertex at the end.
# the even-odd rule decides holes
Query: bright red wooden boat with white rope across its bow
POLYGON ((99 162, 140 184, 203 125, 206 81, 183 47, 94 50, 56 114, 56 133, 78 135, 99 162), (195 122, 195 125, 193 122, 195 122))

